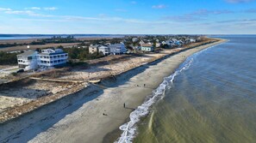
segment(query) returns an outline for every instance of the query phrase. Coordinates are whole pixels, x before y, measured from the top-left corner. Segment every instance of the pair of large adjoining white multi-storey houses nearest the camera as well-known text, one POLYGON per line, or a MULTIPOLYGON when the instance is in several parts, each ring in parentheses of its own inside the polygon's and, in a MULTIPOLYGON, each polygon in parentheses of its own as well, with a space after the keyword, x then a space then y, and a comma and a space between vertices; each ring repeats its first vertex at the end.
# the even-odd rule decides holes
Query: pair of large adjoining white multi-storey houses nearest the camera
POLYGON ((38 51, 25 51, 17 55, 19 68, 30 70, 39 67, 54 67, 66 64, 68 54, 61 49, 46 49, 38 51))

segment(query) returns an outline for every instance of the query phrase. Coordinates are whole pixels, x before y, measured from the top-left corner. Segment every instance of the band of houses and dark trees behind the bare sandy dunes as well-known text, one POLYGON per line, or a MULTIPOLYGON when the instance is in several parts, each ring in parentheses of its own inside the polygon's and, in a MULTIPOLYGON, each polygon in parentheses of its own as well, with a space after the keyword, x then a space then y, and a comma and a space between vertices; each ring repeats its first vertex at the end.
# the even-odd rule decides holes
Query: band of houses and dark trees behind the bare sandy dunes
MULTIPOLYGON (((84 59, 97 59, 100 57, 107 57, 111 55, 123 55, 123 54, 143 54, 149 52, 159 52, 163 49, 175 49, 183 45, 189 45, 202 41, 200 36, 124 36, 123 38, 114 39, 96 39, 96 40, 78 40, 72 36, 66 38, 53 37, 51 39, 37 39, 36 41, 22 45, 22 51, 16 51, 16 46, 9 47, 11 44, 1 44, 0 50, 8 50, 8 53, 17 53, 17 63, 19 69, 17 71, 28 71, 32 69, 49 68, 58 65, 65 65, 70 61, 78 60, 76 57, 68 57, 75 54, 75 52, 81 50, 86 52, 87 55, 80 56, 79 62, 84 62, 84 59), (47 48, 35 48, 31 50, 30 45, 37 44, 38 47, 42 44, 42 41, 51 41, 53 43, 59 43, 66 39, 67 42, 80 42, 75 43, 72 46, 47 47, 47 48), (160 40, 159 40, 160 39, 160 40), (4 47, 5 45, 5 47, 4 47), (59 49, 60 48, 60 49, 59 49), (70 50, 72 49, 72 50, 70 50), (77 50, 77 51, 76 51, 77 50), (81 60, 82 59, 82 60, 81 60), (22 70, 21 70, 22 69, 22 70)), ((16 44, 15 45, 19 45, 16 44)), ((81 54, 81 53, 76 53, 81 54)), ((79 57, 79 56, 78 56, 79 57)), ((8 60, 6 63, 9 63, 8 60)), ((15 64, 16 61, 12 61, 15 64)), ((3 60, 2 60, 2 64, 3 60)))

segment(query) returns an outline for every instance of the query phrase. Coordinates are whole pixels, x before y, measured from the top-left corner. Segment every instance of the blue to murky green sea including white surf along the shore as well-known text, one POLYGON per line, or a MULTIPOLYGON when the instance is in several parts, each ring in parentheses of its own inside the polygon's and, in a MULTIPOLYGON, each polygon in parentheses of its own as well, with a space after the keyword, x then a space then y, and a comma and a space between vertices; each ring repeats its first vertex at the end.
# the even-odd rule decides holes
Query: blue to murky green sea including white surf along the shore
POLYGON ((256 142, 256 36, 220 38, 229 41, 165 78, 121 127, 119 142, 256 142))

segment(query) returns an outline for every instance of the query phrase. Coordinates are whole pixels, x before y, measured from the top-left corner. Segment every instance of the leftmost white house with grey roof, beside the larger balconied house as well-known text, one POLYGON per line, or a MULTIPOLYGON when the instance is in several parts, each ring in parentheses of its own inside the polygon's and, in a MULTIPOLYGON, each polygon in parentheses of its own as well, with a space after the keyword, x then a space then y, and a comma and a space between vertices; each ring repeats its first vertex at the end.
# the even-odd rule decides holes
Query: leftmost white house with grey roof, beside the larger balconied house
POLYGON ((37 67, 37 51, 25 51, 22 54, 17 55, 17 61, 19 68, 26 68, 29 69, 29 67, 37 67))

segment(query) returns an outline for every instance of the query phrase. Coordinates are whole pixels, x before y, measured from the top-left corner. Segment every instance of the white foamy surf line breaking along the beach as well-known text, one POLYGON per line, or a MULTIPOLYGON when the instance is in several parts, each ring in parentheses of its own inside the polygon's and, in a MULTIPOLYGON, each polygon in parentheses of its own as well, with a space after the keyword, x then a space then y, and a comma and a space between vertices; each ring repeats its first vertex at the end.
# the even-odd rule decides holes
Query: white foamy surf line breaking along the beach
POLYGON ((174 74, 168 77, 165 77, 164 81, 159 85, 159 87, 153 91, 152 96, 130 114, 129 116, 130 121, 123 124, 120 127, 120 129, 122 130, 122 134, 121 134, 121 137, 116 141, 117 143, 132 142, 136 134, 136 129, 137 129, 136 123, 140 121, 140 117, 146 116, 149 112, 148 109, 155 102, 165 97, 165 89, 166 88, 170 89, 172 87, 173 80, 175 79, 175 77, 178 74, 181 74, 184 70, 189 69, 194 59, 201 52, 203 51, 197 52, 196 54, 188 57, 186 61, 183 64, 181 64, 180 67, 174 72, 174 74))

